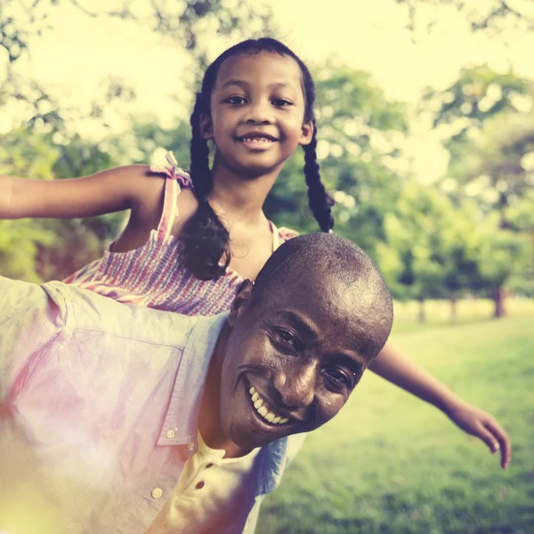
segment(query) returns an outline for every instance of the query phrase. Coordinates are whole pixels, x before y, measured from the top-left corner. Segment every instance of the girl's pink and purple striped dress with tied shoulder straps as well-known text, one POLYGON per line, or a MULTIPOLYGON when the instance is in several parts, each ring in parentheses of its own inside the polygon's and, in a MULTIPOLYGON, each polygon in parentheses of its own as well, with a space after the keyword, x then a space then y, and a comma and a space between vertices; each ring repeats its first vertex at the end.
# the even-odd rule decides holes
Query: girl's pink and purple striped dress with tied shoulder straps
MULTIPOLYGON (((113 252, 113 245, 104 255, 64 281, 84 287, 123 303, 137 303, 149 308, 178 312, 184 315, 215 315, 230 309, 243 277, 227 269, 216 280, 197 279, 183 266, 182 241, 171 234, 177 214, 176 200, 181 187, 192 188, 190 175, 177 167, 172 153, 167 154, 170 166, 150 167, 166 174, 164 205, 158 229, 142 247, 127 252, 113 252)), ((287 228, 271 224, 272 250, 297 235, 287 228)))

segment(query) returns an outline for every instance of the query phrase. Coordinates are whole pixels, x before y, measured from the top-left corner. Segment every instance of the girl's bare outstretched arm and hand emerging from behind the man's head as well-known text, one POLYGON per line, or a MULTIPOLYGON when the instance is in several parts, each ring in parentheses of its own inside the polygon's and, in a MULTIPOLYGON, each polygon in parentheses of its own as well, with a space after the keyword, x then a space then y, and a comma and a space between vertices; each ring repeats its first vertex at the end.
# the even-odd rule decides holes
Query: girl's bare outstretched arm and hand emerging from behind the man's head
POLYGON ((506 469, 510 464, 511 445, 508 434, 497 419, 489 413, 462 401, 449 388, 441 384, 414 360, 400 351, 385 344, 369 369, 392 384, 413 393, 419 399, 430 402, 441 409, 456 425, 467 433, 484 441, 492 453, 500 449, 501 466, 506 469))

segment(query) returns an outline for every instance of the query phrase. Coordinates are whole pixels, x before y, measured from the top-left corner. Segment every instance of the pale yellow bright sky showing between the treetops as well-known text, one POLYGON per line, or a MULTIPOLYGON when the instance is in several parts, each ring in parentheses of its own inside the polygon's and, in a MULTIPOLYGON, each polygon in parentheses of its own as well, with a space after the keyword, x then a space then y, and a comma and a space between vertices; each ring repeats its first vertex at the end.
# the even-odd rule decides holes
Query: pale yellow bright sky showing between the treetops
MULTIPOLYGON (((148 0, 137 2, 145 3, 148 0)), ((110 6, 113 0, 104 4, 110 6)), ((473 35, 453 9, 441 10, 430 36, 417 35, 414 44, 404 28, 407 10, 394 0, 270 0, 269 4, 282 28, 279 37, 304 61, 313 65, 337 54, 354 69, 370 71, 393 99, 414 103, 426 85, 444 88, 461 67, 481 62, 494 69, 512 64, 518 74, 534 77, 534 62, 527 53, 534 50, 534 36, 508 32, 505 44, 499 38, 473 35)), ((135 109, 156 113, 162 124, 189 111, 169 98, 172 93, 190 92, 181 83, 189 66, 172 41, 121 20, 92 19, 69 4, 54 9, 50 21, 53 29, 36 38, 30 47, 31 61, 22 67, 62 101, 86 105, 102 80, 115 76, 134 86, 135 109)), ((223 48, 214 44, 214 54, 223 48)), ((0 55, 0 65, 2 60, 0 55)), ((416 129, 409 152, 421 177, 437 177, 444 171, 445 154, 423 125, 416 129)))

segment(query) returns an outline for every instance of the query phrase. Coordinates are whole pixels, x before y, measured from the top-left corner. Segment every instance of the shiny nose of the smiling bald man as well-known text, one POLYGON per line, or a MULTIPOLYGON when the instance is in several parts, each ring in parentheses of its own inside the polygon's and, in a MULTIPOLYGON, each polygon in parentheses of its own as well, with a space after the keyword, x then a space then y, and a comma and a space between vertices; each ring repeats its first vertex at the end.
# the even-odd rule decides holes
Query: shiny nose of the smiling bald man
POLYGON ((305 408, 312 404, 318 380, 319 362, 292 362, 278 369, 272 383, 287 408, 305 408))

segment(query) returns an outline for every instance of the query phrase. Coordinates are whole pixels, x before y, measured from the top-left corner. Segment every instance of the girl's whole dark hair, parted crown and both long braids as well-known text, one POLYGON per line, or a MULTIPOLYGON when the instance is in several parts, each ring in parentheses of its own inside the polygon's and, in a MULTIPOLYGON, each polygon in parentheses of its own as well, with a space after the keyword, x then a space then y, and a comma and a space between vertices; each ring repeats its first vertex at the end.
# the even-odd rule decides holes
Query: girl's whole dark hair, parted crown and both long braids
POLYGON ((223 276, 230 263, 230 234, 209 205, 207 195, 212 188, 212 176, 209 168, 209 149, 207 141, 200 134, 200 115, 210 115, 210 100, 214 90, 218 71, 224 60, 231 56, 244 53, 279 53, 293 58, 303 75, 303 93, 305 101, 304 122, 312 121, 313 136, 310 144, 303 146, 304 176, 308 185, 308 198, 312 213, 322 231, 330 231, 334 227, 331 206, 332 198, 320 180, 319 164, 317 163, 317 127, 313 113, 315 102, 315 85, 312 75, 296 54, 285 44, 275 39, 263 37, 248 39, 223 52, 207 69, 202 80, 201 92, 197 93, 195 108, 190 117, 192 137, 190 143, 190 176, 194 193, 198 199, 197 211, 183 225, 180 239, 183 248, 183 263, 198 279, 218 279, 223 276), (223 258, 223 262, 221 262, 223 258))

